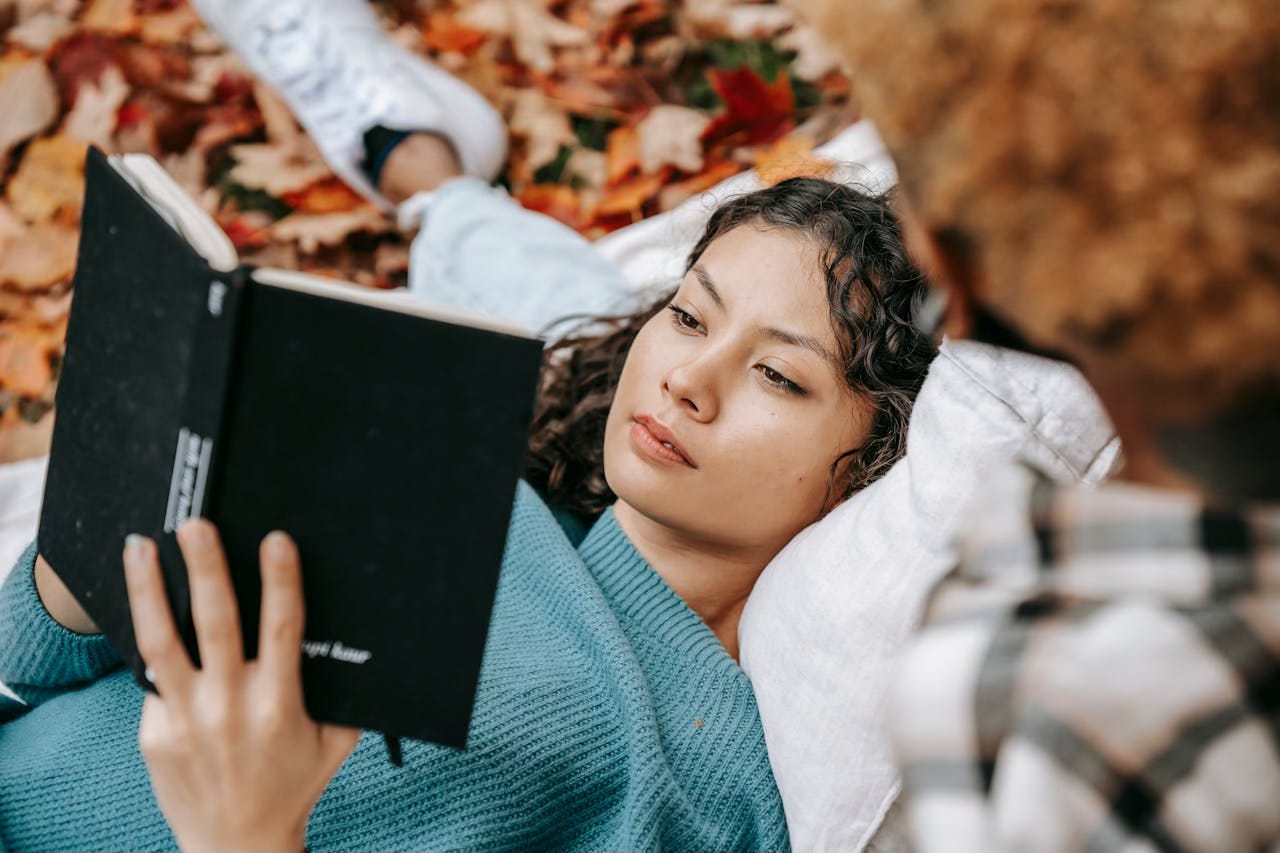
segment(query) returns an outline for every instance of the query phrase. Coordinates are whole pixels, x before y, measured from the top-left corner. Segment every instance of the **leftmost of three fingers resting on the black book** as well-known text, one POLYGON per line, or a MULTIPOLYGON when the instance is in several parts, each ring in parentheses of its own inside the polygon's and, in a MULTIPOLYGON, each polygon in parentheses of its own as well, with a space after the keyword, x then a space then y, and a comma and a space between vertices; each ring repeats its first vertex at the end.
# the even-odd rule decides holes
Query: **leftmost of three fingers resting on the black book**
POLYGON ((147 678, 165 698, 186 695, 196 670, 173 624, 160 560, 151 539, 131 535, 124 540, 124 583, 129 592, 133 637, 147 678))

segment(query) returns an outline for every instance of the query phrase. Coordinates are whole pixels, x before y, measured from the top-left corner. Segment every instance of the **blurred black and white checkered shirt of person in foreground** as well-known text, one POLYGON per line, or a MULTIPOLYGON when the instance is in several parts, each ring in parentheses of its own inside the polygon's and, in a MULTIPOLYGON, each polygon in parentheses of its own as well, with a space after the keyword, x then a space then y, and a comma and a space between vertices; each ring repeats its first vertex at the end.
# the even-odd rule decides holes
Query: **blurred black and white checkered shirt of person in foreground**
POLYGON ((1024 469, 893 695, 933 850, 1280 850, 1280 507, 1024 469))

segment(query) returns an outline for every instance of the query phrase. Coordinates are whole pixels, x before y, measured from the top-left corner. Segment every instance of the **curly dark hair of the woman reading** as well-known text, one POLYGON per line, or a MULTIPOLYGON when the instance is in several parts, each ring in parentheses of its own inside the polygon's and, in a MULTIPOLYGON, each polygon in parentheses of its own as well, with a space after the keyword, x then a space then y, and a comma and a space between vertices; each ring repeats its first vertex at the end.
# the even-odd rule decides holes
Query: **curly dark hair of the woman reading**
MULTIPOLYGON (((845 382, 874 410, 867 441, 831 466, 828 488, 849 497, 883 476, 906 450, 911 405, 934 355, 911 321, 924 279, 908 259, 887 196, 817 178, 783 181, 721 205, 685 270, 712 241, 742 225, 783 228, 820 250, 845 382)), ((552 506, 593 517, 613 503, 604 480, 613 392, 631 342, 672 296, 594 320, 547 348, 525 476, 552 506)))

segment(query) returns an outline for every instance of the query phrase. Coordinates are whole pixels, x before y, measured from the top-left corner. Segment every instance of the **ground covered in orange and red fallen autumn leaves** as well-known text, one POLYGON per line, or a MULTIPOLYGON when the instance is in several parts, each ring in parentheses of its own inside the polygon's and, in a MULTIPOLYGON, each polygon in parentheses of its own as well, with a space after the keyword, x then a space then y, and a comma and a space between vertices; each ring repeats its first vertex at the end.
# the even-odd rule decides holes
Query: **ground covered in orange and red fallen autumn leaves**
MULTIPOLYGON (((589 237, 742 169, 812 169, 852 118, 835 58, 772 3, 375 6, 503 111, 512 195, 589 237)), ((47 450, 91 143, 154 155, 250 263, 404 280, 406 236, 184 0, 0 0, 0 462, 47 450)))

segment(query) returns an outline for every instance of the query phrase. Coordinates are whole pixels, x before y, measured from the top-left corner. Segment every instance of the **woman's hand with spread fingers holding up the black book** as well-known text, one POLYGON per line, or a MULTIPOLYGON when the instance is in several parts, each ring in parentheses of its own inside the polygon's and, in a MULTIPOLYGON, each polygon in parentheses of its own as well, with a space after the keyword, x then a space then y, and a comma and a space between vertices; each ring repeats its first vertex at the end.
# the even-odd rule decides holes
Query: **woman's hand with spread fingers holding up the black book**
POLYGON ((178 529, 201 667, 174 628, 155 543, 129 537, 125 578, 138 652, 159 695, 138 743, 156 802, 183 850, 301 850, 316 802, 356 745, 302 703, 302 576, 283 533, 262 539, 257 660, 246 662, 227 560, 211 524, 178 529))

